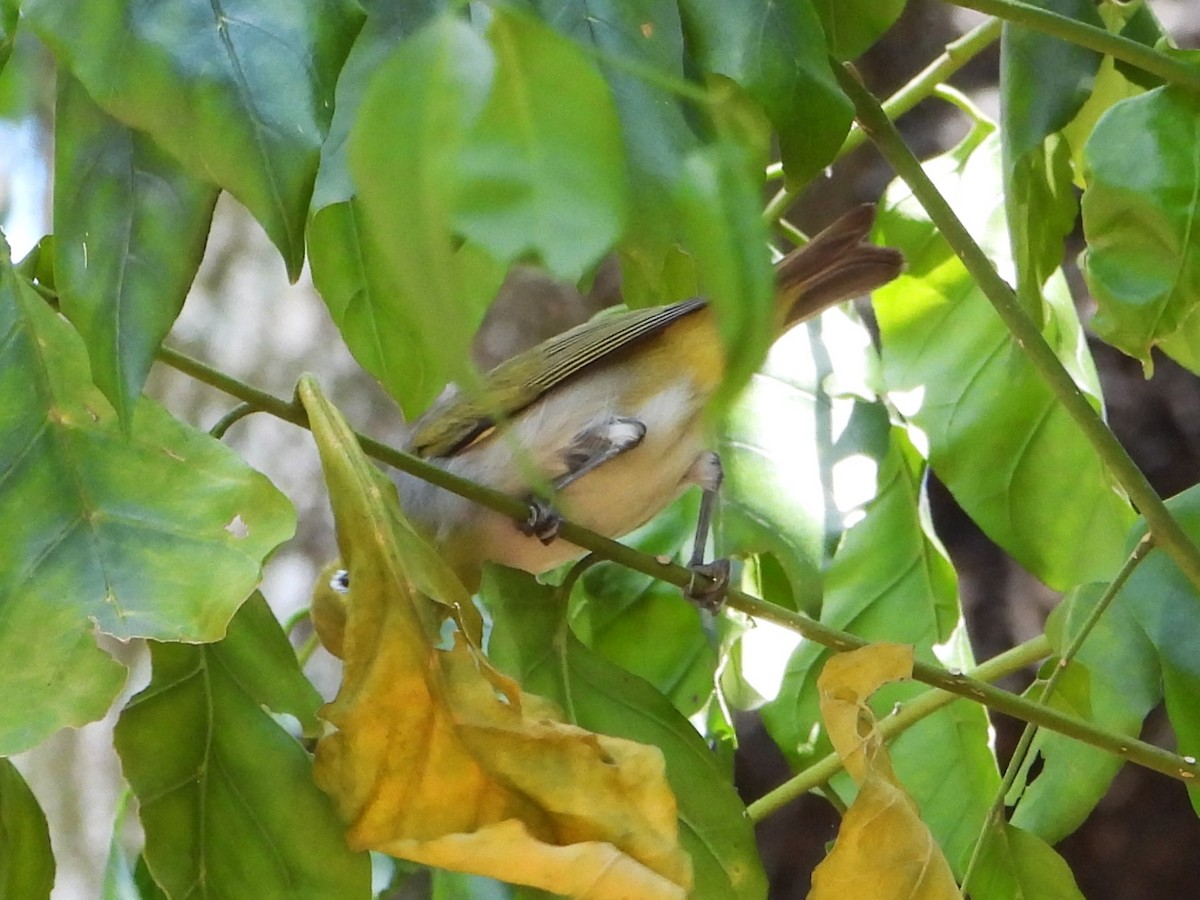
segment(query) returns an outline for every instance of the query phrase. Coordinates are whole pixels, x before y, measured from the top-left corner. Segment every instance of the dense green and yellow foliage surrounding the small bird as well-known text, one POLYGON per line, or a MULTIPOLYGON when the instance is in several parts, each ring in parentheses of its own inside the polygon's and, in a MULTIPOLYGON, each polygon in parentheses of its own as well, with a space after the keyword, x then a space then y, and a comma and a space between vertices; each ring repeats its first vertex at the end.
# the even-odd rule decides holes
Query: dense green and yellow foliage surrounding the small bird
MULTIPOLYGON (((866 130, 906 173, 880 204, 876 236, 908 268, 875 294, 878 343, 830 311, 768 358, 767 244, 784 248, 792 200, 864 139, 838 60, 902 2, 0 0, 0 82, 29 78, 35 42, 58 78, 53 234, 23 260, 0 240, 0 752, 113 706, 127 672, 97 632, 151 642, 151 682, 116 730, 145 847, 131 860, 114 844, 114 895, 367 898, 373 848, 568 893, 586 872, 647 896, 692 878, 695 896, 763 896, 752 821, 776 805, 748 816, 731 764, 731 709, 760 706, 793 787, 847 809, 814 896, 966 881, 979 899, 1078 895, 1052 844, 1122 757, 1195 774, 1138 733, 1164 702, 1178 752, 1200 751, 1200 554, 1184 538, 1200 536, 1200 494, 1164 509, 1104 428, 1064 238, 1081 218, 1100 340, 1200 372, 1200 67, 1144 5, 1039 6, 1055 13, 1039 30, 1003 26, 998 124, 940 86, 962 60, 898 103, 937 94, 970 119, 924 166, 966 233, 895 136, 866 130), (782 187, 763 216, 767 173, 782 187), (347 347, 406 414, 472 383, 467 348, 515 263, 586 282, 614 253, 635 305, 702 284, 728 361, 719 550, 767 602, 734 594, 713 620, 611 564, 564 587, 493 570, 481 618, 306 382, 350 570, 348 595, 317 593, 346 660, 318 714, 256 592, 290 504, 143 396, 222 191, 293 278, 307 257, 347 347), (980 277, 976 245, 1015 294, 980 277), (1030 733, 1036 778, 1031 755, 1002 780, 979 703, 930 701, 887 731, 881 710, 930 698, 880 685, 973 665, 931 473, 1066 594, 1021 660, 1049 647, 1061 674, 1010 706, 1063 732, 1030 733), (772 656, 745 610, 809 640, 772 656), (881 643, 838 655, 852 636, 881 643), (846 680, 854 659, 863 682, 846 680)), ((672 557, 694 515, 685 499, 629 540, 672 557)), ((0 894, 47 896, 44 817, 0 766, 0 894)))

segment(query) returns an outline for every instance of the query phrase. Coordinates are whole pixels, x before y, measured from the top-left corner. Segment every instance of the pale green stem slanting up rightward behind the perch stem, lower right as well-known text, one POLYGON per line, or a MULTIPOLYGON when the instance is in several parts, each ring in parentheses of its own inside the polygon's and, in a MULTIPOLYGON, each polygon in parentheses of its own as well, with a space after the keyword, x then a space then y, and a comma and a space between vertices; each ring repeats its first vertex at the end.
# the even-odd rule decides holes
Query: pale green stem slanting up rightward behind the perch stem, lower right
MULTIPOLYGON (((1009 650, 1004 650, 1004 653, 992 656, 986 662, 976 666, 971 670, 971 677, 980 682, 994 682, 1006 674, 1018 672, 1033 665, 1038 660, 1044 659, 1049 653, 1050 641, 1044 635, 1039 635, 1031 641, 1026 641, 1025 643, 1013 647, 1009 650)), ((906 701, 895 714, 882 719, 878 724, 880 733, 883 736, 884 740, 888 740, 896 734, 907 731, 922 719, 932 715, 942 707, 949 706, 959 700, 961 700, 961 697, 954 694, 947 694, 942 690, 925 691, 924 694, 906 701)), ((824 785, 829 781, 829 779, 841 772, 841 757, 838 756, 838 754, 829 754, 828 756, 822 757, 817 762, 806 767, 804 772, 788 779, 779 787, 764 793, 757 800, 746 806, 746 812, 750 814, 750 820, 752 822, 761 822, 772 812, 776 812, 782 809, 797 797, 800 797, 809 791, 815 791, 821 785, 824 785)))

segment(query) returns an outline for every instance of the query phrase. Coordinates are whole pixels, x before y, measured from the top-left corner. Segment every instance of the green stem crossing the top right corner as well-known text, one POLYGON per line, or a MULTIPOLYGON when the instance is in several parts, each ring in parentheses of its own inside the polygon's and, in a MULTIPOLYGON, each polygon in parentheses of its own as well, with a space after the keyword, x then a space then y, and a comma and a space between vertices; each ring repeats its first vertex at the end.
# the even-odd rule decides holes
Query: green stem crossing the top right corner
POLYGON ((954 6, 976 10, 986 16, 1025 25, 1054 37, 1061 37, 1080 47, 1104 53, 1132 66, 1156 74, 1164 82, 1180 84, 1200 91, 1200 68, 1170 56, 1153 47, 1114 35, 1103 28, 1088 25, 1057 12, 1043 10, 1020 0, 948 0, 954 6))

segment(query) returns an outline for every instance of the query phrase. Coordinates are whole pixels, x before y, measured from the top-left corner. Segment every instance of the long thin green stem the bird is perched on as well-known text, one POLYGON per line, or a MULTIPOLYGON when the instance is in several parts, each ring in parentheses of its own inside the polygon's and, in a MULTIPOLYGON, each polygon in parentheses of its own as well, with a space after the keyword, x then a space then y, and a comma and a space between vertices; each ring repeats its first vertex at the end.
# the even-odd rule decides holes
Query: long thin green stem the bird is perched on
MULTIPOLYGON (((230 378, 202 362, 188 359, 175 350, 161 348, 158 359, 187 374, 192 374, 205 384, 218 388, 247 403, 256 404, 263 412, 270 413, 283 421, 307 427, 307 419, 304 410, 296 403, 287 403, 264 391, 245 385, 235 378, 230 378)), ((362 434, 355 433, 355 438, 367 456, 424 479, 460 497, 464 497, 473 503, 487 506, 516 521, 524 521, 529 514, 526 503, 516 497, 510 497, 490 487, 478 485, 474 481, 458 478, 425 460, 396 450, 362 434)), ((696 574, 691 569, 676 563, 661 562, 655 557, 647 556, 641 551, 596 534, 575 522, 564 520, 562 528, 558 530, 558 536, 582 550, 590 551, 605 559, 624 565, 626 569, 649 575, 652 578, 665 581, 678 588, 688 588, 696 578, 696 574)), ((748 616, 773 622, 834 650, 854 650, 870 643, 857 635, 829 628, 808 616, 784 610, 734 588, 727 590, 726 602, 732 608, 739 610, 748 616)), ((1051 731, 1057 731, 1068 737, 1092 744, 1102 750, 1106 750, 1156 772, 1162 772, 1171 778, 1193 779, 1200 775, 1200 766, 1196 766, 1195 762, 1189 762, 1152 744, 1130 739, 1126 734, 1111 734, 1079 716, 1039 707, 1024 697, 1000 690, 998 688, 992 688, 990 684, 968 678, 960 672, 950 672, 941 666, 917 661, 913 664, 912 673, 913 678, 918 682, 924 682, 934 688, 941 688, 950 694, 974 700, 998 713, 1037 722, 1051 731)))

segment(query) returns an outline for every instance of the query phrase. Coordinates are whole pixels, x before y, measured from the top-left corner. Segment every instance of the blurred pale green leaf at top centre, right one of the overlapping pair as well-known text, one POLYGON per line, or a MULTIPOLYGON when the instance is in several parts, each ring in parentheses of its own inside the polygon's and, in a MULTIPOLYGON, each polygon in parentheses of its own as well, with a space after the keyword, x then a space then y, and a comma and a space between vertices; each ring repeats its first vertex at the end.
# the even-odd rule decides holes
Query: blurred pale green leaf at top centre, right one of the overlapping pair
POLYGON ((577 280, 624 232, 620 125, 600 73, 539 22, 494 11, 496 76, 466 137, 454 223, 504 263, 577 280))

